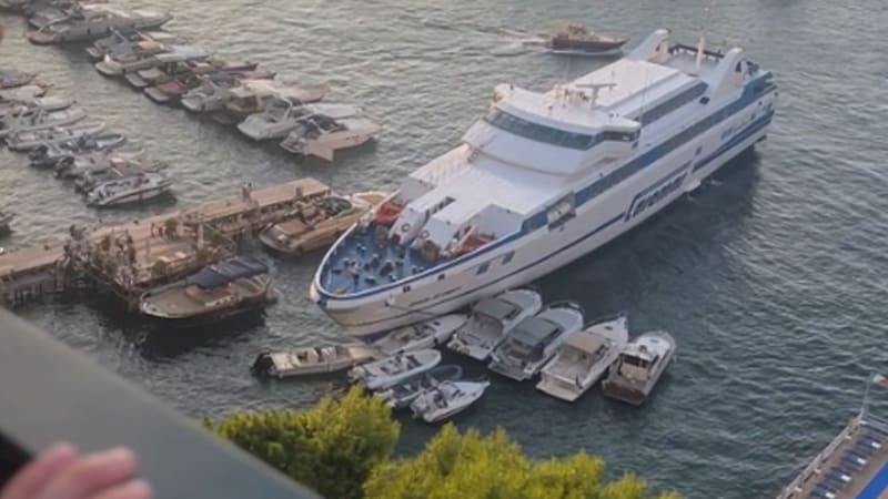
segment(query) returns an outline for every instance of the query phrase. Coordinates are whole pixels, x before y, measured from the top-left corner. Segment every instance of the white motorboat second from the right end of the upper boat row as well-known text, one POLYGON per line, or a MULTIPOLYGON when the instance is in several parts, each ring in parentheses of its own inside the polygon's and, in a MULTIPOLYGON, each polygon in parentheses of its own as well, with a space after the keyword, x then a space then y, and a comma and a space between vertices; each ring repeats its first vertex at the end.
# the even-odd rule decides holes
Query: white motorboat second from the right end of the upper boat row
POLYGON ((349 118, 361 113, 361 108, 354 105, 303 104, 291 99, 272 99, 261 113, 251 114, 238 124, 238 130, 254 141, 283 139, 319 114, 349 118))

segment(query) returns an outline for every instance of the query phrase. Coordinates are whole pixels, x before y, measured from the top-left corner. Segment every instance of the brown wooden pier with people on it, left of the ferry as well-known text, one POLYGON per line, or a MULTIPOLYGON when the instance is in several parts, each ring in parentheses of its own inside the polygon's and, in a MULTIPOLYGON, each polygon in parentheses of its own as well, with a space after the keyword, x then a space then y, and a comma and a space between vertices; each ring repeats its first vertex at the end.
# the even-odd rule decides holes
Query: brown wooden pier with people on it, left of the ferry
POLYGON ((235 238, 329 193, 322 182, 301 179, 91 232, 72 227, 58 243, 0 255, 0 304, 94 284, 133 307, 145 291, 231 255, 235 238))

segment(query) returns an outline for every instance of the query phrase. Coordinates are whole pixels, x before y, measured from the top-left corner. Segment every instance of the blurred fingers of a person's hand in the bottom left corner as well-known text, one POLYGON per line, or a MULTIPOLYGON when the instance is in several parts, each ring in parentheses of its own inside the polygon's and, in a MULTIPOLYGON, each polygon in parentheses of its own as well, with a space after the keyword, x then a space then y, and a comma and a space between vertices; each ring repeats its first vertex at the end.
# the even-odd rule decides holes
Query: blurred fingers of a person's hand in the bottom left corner
POLYGON ((135 455, 129 449, 80 455, 59 444, 19 470, 0 499, 151 499, 151 487, 134 480, 134 472, 135 455))

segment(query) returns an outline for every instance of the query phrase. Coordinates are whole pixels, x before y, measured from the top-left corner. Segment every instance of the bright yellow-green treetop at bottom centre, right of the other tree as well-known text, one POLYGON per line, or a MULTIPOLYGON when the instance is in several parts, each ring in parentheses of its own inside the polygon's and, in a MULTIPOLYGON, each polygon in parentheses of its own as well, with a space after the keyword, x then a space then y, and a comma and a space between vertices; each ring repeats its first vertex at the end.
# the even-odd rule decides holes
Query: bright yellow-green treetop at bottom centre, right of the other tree
POLYGON ((364 485, 366 499, 677 499, 652 493, 644 480, 624 475, 603 480, 604 461, 577 452, 529 459, 505 431, 482 437, 442 428, 414 458, 377 466, 364 485))

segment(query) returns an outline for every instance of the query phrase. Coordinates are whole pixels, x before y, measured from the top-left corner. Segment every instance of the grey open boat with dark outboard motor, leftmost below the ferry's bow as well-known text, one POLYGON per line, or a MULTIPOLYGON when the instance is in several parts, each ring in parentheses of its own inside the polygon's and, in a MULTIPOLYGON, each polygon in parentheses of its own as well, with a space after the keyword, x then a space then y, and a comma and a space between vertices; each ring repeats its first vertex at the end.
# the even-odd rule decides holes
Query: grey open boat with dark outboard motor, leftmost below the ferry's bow
POLYGON ((258 376, 283 379, 335 373, 373 360, 374 352, 361 343, 325 347, 296 348, 289 352, 266 352, 256 357, 250 370, 258 376))

